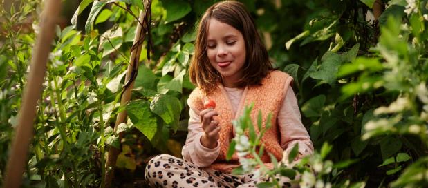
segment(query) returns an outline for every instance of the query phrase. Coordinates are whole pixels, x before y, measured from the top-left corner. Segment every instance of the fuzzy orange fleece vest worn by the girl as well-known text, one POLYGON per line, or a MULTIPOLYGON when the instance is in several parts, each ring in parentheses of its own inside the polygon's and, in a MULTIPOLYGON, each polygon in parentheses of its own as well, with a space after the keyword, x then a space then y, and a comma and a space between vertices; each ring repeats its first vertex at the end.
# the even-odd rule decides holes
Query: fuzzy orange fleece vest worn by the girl
MULTIPOLYGON (((232 105, 227 96, 227 92, 221 85, 209 95, 205 95, 199 88, 196 88, 192 94, 190 94, 188 104, 196 113, 203 110, 205 98, 211 98, 216 101, 216 111, 219 115, 214 117, 214 120, 218 121, 219 126, 221 126, 221 131, 219 133, 220 154, 214 163, 210 165, 210 169, 230 172, 234 167, 239 166, 239 158, 236 153, 232 156, 230 161, 225 160, 230 140, 234 137, 232 120, 241 116, 244 107, 251 103, 254 103, 254 108, 252 109, 250 117, 257 134, 259 134, 259 129, 257 127, 257 115, 259 114, 259 110, 261 110, 263 117, 263 128, 265 127, 268 114, 272 113, 272 127, 268 129, 261 138, 261 144, 265 147, 265 152, 263 152, 264 154, 261 160, 263 160, 264 163, 270 163, 268 152, 273 154, 278 161, 281 160, 283 149, 279 143, 279 128, 277 127, 276 120, 285 96, 284 86, 288 86, 290 83, 292 83, 292 77, 288 76, 288 74, 281 71, 270 72, 270 75, 266 76, 266 78, 261 81, 262 85, 245 87, 239 106, 236 109, 236 115, 233 114, 232 105)), ((245 134, 248 136, 248 131, 245 134)), ((271 164, 266 165, 268 165, 268 167, 272 166, 271 164)))

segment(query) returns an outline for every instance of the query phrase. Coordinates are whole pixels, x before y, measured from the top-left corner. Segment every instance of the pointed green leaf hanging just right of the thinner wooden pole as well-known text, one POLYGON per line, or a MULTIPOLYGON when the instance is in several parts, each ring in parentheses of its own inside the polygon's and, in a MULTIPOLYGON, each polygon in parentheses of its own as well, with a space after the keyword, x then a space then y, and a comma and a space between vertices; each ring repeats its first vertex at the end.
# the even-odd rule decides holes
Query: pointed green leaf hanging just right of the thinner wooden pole
POLYGON ((144 100, 131 101, 126 109, 133 125, 151 140, 156 134, 158 125, 156 116, 150 111, 149 102, 144 100))

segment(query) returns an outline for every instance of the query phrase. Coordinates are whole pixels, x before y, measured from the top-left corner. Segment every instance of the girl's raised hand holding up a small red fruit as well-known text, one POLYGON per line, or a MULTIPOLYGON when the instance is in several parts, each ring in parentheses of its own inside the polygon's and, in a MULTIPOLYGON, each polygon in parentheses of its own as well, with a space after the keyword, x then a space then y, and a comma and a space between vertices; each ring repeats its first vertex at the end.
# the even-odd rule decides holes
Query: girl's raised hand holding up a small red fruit
POLYGON ((199 114, 201 116, 201 125, 203 129, 203 136, 201 137, 201 144, 207 148, 214 148, 217 146, 217 140, 220 138, 221 127, 218 126, 218 121, 213 120, 213 116, 218 116, 215 109, 204 109, 199 114))

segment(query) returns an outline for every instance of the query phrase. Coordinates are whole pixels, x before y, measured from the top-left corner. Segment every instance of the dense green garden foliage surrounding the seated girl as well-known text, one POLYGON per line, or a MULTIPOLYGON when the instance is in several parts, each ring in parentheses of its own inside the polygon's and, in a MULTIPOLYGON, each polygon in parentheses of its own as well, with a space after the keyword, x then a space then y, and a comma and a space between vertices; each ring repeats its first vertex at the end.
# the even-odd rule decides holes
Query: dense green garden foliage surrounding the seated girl
MULTIPOLYGON (((142 179, 151 156, 180 156, 194 88, 187 74, 194 25, 214 2, 153 1, 152 43, 144 43, 131 102, 122 107, 142 1, 83 0, 68 12, 71 23, 57 28, 52 44, 24 187, 99 187, 108 147, 122 146, 117 186, 142 179), (113 132, 124 110, 129 121, 113 132), (126 132, 122 140, 119 132, 126 132)), ((275 67, 295 79, 319 151, 307 164, 332 167, 316 180, 332 187, 427 185, 427 0, 384 0, 378 21, 370 19, 373 0, 243 2, 275 67)), ((41 5, 24 0, 0 8, 0 185, 41 5)), ((282 172, 290 176, 288 169, 282 172)))

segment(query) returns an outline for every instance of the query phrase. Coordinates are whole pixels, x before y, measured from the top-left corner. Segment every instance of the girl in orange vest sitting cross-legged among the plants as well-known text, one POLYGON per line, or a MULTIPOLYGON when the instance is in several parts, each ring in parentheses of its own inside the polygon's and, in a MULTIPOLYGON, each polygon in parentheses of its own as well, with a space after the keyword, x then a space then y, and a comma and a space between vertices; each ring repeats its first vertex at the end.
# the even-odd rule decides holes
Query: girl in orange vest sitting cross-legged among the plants
POLYGON ((292 77, 272 68, 254 21, 242 3, 223 1, 207 9, 198 26, 189 74, 198 88, 187 100, 190 119, 184 160, 165 154, 152 158, 145 174, 151 185, 255 187, 260 179, 252 174, 231 174, 239 166, 236 154, 225 160, 234 137, 232 120, 250 103, 254 103, 254 123, 259 110, 263 127, 266 121, 272 122, 261 139, 266 151, 261 159, 266 165, 270 165, 268 152, 281 160, 296 144, 299 158, 313 152, 290 87, 292 77), (204 108, 207 98, 216 102, 214 109, 204 108), (267 119, 269 113, 272 120, 267 119))

